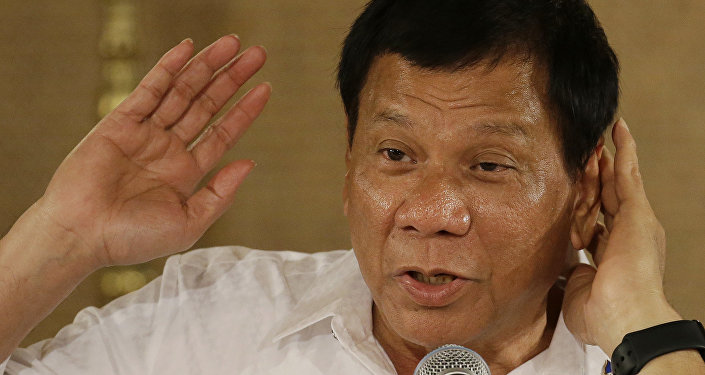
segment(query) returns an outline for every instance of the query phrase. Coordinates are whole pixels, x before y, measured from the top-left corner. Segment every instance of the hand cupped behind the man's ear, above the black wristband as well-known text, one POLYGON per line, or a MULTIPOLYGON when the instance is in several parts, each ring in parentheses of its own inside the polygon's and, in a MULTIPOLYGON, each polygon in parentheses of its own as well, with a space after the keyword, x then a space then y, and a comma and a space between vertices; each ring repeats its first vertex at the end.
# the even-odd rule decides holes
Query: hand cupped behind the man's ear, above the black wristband
POLYGON ((597 269, 578 266, 563 303, 573 334, 608 355, 625 334, 680 319, 663 292, 665 234, 646 198, 624 120, 615 124, 612 138, 614 158, 604 149, 599 161, 605 224, 597 224, 588 246, 597 269))

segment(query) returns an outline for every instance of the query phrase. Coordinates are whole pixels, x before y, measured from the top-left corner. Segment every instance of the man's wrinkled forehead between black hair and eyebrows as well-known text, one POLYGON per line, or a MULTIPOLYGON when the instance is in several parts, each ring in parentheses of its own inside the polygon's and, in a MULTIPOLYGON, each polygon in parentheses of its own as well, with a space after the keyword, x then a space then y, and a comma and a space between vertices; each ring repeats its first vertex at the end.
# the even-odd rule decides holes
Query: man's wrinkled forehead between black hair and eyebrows
POLYGON ((444 70, 418 67, 397 54, 382 55, 360 92, 359 119, 433 122, 436 131, 476 122, 529 137, 547 130, 554 135, 543 104, 542 73, 526 58, 444 70))

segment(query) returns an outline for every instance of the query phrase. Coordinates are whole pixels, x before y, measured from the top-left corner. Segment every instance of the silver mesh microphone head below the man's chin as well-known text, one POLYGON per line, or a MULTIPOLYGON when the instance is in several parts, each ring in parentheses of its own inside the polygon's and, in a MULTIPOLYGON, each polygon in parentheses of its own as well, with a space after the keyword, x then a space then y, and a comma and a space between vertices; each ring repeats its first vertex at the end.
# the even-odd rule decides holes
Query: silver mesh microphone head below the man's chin
POLYGON ((443 345, 423 357, 414 375, 490 375, 490 367, 468 348, 443 345))

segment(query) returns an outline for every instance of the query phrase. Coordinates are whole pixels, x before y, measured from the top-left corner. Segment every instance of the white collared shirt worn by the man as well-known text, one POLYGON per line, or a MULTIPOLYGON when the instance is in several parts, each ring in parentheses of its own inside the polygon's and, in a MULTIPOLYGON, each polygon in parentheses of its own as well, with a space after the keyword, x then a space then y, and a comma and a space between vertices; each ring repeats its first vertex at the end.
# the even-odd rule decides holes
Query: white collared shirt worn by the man
MULTIPOLYGON (((559 319, 551 345, 510 375, 601 374, 607 356, 559 319)), ((163 275, 0 374, 395 374, 372 335, 372 297, 352 251, 218 247, 169 258, 163 275)))

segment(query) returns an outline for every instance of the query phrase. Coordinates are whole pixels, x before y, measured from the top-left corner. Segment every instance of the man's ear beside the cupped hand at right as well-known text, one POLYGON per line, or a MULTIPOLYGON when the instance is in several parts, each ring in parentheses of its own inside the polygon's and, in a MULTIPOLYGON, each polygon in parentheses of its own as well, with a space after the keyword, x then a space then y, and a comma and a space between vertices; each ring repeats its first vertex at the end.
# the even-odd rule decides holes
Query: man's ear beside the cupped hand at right
POLYGON ((600 214, 600 166, 599 161, 604 147, 604 137, 595 147, 585 169, 576 181, 573 221, 570 227, 570 241, 575 249, 584 249, 592 241, 595 224, 600 214))

